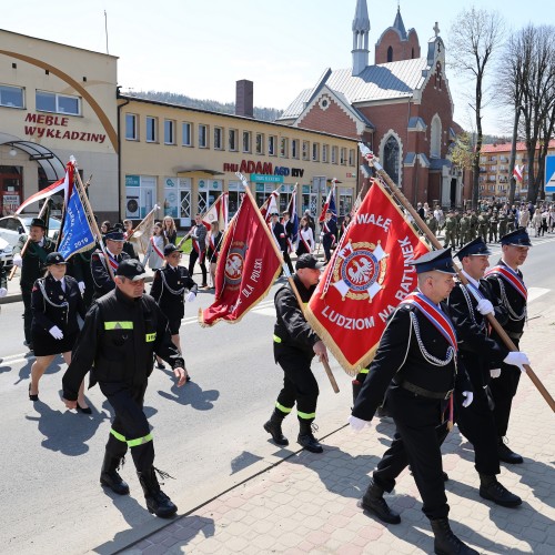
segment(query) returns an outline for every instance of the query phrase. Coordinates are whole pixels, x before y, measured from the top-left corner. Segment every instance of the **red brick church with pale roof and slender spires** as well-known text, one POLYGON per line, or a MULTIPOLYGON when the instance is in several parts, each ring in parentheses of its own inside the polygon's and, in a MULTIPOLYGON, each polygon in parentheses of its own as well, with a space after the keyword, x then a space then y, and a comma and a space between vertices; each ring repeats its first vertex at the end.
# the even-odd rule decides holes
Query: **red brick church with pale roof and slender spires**
POLYGON ((397 9, 393 26, 376 41, 374 64, 369 64, 366 0, 356 1, 352 29, 352 67, 327 68, 279 121, 366 143, 414 204, 461 205, 463 176, 446 159, 460 127, 453 122, 437 22, 422 53, 416 31, 405 30, 397 9))

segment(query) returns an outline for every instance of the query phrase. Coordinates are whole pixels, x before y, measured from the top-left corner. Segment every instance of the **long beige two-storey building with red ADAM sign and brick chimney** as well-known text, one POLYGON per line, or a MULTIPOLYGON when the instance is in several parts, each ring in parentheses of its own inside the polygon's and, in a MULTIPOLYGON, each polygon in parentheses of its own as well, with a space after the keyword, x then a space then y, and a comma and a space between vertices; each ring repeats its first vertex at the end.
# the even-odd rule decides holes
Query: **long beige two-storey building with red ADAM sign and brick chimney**
MULTIPOLYGON (((238 83, 238 100, 252 99, 252 83, 238 83), (241 89, 241 90, 240 90, 241 89)), ((243 105, 252 113, 252 102, 243 105)), ((142 219, 157 203, 157 216, 191 225, 221 192, 229 192, 230 214, 238 208, 243 173, 261 205, 275 189, 285 210, 297 186, 297 211, 320 214, 337 179, 339 215, 356 198, 357 143, 353 139, 291 128, 182 105, 120 95, 121 216, 142 219)))

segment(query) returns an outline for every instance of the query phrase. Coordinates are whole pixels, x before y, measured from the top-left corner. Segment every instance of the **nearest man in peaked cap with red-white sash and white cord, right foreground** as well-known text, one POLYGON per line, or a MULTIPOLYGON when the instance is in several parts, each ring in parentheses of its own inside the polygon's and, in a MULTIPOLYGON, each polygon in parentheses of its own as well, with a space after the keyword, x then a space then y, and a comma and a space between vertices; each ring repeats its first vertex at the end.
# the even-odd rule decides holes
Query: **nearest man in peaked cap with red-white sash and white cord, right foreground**
POLYGON ((354 430, 362 430, 386 394, 396 426, 392 446, 374 471, 361 505, 384 522, 400 523, 400 515, 390 509, 383 493, 393 490, 400 467, 408 461, 422 496, 422 511, 435 535, 435 553, 477 554, 450 527, 437 431, 445 408, 451 412, 453 394, 466 397, 464 406, 473 397, 464 369, 457 371, 455 329, 441 304, 454 286, 451 249, 424 254, 414 265, 418 289, 390 316, 349 418, 354 430))

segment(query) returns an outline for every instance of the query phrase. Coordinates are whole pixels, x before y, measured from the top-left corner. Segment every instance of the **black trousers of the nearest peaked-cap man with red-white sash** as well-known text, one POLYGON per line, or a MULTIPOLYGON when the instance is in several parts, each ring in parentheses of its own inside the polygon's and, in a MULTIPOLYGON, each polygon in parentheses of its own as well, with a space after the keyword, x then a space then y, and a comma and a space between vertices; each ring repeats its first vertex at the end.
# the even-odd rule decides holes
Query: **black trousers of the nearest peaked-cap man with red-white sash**
POLYGON ((445 426, 442 426, 445 403, 398 386, 390 387, 386 402, 397 431, 373 474, 375 483, 391 492, 395 478, 408 463, 422 497, 423 513, 430 519, 445 518, 450 511, 441 453, 445 438, 445 426))

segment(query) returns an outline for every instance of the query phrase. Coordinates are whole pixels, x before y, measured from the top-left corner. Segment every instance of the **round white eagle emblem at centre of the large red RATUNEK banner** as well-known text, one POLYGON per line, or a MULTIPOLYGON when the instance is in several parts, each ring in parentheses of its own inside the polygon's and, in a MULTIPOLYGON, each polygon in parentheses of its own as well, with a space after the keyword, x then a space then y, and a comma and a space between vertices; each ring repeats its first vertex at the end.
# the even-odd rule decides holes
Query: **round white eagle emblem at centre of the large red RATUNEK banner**
POLYGON ((385 279, 387 254, 380 243, 349 243, 341 249, 333 268, 332 285, 345 297, 372 302, 385 279))

